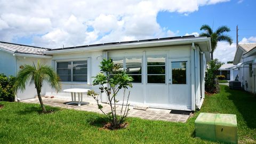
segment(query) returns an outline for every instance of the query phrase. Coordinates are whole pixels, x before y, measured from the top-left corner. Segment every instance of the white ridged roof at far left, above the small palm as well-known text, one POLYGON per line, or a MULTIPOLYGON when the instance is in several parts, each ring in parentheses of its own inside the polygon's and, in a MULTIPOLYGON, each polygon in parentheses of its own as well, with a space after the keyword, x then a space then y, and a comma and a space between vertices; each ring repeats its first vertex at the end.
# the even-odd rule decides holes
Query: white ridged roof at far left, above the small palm
POLYGON ((9 51, 11 53, 36 54, 36 55, 45 55, 44 52, 47 50, 50 50, 43 47, 14 44, 14 43, 7 43, 7 42, 0 42, 0 49, 4 49, 5 51, 9 51))

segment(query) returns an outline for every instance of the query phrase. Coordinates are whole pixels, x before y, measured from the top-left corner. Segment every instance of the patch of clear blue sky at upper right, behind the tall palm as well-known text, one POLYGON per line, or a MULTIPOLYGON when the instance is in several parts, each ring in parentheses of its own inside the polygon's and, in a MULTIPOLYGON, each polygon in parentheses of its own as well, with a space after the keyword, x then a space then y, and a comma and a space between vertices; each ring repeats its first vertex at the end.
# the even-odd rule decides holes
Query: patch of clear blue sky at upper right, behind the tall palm
POLYGON ((179 30, 180 35, 186 33, 200 32, 200 27, 207 24, 213 29, 226 25, 231 31, 228 33, 236 41, 236 26, 238 25, 238 41, 243 37, 256 36, 256 1, 245 0, 230 1, 215 5, 206 5, 199 7, 199 10, 193 13, 180 14, 177 12, 159 12, 157 22, 161 27, 166 27, 174 31, 179 30))

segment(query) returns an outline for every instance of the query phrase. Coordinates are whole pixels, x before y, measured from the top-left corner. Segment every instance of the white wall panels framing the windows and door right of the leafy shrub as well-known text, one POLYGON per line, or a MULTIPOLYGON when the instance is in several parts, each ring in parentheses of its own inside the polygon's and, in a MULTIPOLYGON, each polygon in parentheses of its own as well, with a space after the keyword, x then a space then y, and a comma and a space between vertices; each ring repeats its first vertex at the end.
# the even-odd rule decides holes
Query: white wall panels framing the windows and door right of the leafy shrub
MULTIPOLYGON (((142 83, 132 83, 133 88, 130 93, 131 105, 147 105, 149 107, 159 108, 173 108, 182 110, 191 110, 191 90, 179 90, 175 86, 169 85, 169 78, 171 77, 169 70, 169 60, 175 59, 188 59, 190 61, 190 46, 175 46, 164 47, 157 49, 139 49, 139 50, 123 50, 123 51, 109 51, 109 58, 120 57, 142 57, 142 83), (164 56, 166 57, 166 75, 165 84, 152 84, 147 83, 147 62, 148 56, 164 56), (172 97, 169 97, 169 92, 172 93, 172 97), (185 92, 186 98, 175 98, 175 93, 185 92), (172 103, 175 101, 175 103, 172 103), (180 103, 177 105, 177 103, 180 103)), ((189 65, 190 67, 190 65, 189 65)), ((190 71, 189 71, 190 74, 190 71)), ((190 78, 190 76, 188 76, 190 78)), ((189 79, 190 82, 190 79, 189 79)), ((189 84, 190 85, 190 84, 189 84)), ((123 99, 123 93, 120 92, 118 100, 123 99)))

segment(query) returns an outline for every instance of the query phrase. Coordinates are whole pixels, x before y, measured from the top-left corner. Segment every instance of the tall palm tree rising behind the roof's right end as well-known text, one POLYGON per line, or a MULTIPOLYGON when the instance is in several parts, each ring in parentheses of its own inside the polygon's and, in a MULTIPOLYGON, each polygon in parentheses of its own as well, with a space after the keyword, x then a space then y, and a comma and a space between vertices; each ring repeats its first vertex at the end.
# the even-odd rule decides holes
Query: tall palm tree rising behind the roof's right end
POLYGON ((233 43, 233 39, 229 35, 223 34, 225 32, 230 31, 229 27, 227 26, 220 26, 216 31, 213 32, 212 28, 209 25, 203 25, 200 28, 200 30, 205 30, 205 32, 200 34, 200 36, 211 37, 211 45, 212 45, 211 59, 212 60, 213 60, 213 52, 215 51, 218 42, 226 41, 230 45, 233 43))

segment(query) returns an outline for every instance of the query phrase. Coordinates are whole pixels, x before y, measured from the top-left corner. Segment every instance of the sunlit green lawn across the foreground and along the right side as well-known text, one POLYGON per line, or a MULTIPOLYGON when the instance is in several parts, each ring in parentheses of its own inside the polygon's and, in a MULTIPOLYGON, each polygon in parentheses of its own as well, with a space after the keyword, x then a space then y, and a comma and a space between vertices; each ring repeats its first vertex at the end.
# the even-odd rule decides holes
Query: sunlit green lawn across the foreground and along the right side
POLYGON ((55 113, 38 114, 37 104, 0 102, 0 143, 214 143, 194 138, 200 112, 236 114, 239 142, 256 143, 256 98, 220 86, 187 123, 129 118, 126 129, 114 131, 99 129, 105 121, 100 114, 50 107, 55 113))

